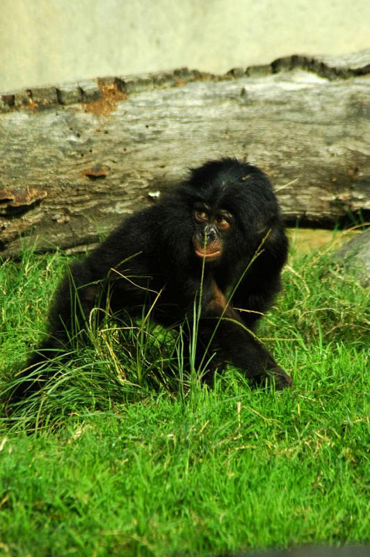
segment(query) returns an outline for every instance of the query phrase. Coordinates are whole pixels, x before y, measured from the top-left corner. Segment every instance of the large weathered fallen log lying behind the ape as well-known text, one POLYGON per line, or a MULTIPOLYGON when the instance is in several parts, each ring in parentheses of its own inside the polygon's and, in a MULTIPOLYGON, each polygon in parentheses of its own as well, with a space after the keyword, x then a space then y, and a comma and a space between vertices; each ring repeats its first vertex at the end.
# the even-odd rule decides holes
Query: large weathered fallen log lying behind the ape
POLYGON ((263 168, 287 221, 369 210, 369 63, 370 51, 291 56, 226 76, 176 70, 0 95, 0 254, 36 237, 41 250, 81 249, 220 156, 263 168))

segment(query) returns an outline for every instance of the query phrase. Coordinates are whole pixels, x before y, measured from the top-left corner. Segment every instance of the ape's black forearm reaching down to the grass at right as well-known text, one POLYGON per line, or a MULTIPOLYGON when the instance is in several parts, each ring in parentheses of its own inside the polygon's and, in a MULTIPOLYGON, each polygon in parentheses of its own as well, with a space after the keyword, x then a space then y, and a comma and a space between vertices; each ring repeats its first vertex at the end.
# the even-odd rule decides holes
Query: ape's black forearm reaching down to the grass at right
MULTIPOLYGON (((227 300, 214 283, 213 299, 200 320, 199 336, 207 354, 216 353, 214 364, 228 362, 240 368, 255 384, 273 378, 276 389, 291 386, 292 380, 273 359, 273 356, 246 329, 241 317, 227 305, 227 300)), ((206 356, 207 357, 207 356, 206 356)))

